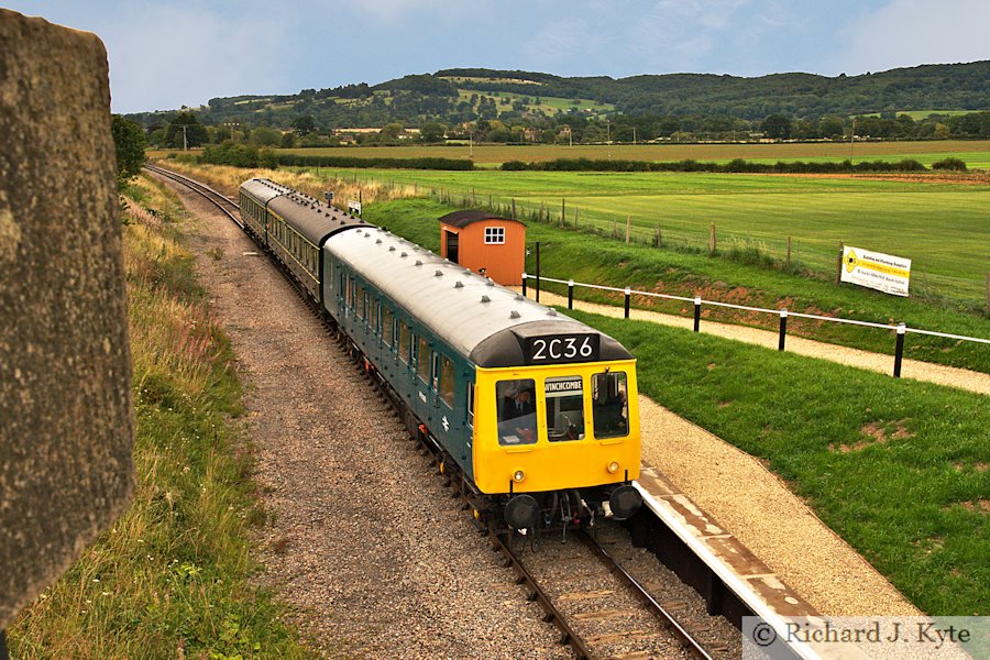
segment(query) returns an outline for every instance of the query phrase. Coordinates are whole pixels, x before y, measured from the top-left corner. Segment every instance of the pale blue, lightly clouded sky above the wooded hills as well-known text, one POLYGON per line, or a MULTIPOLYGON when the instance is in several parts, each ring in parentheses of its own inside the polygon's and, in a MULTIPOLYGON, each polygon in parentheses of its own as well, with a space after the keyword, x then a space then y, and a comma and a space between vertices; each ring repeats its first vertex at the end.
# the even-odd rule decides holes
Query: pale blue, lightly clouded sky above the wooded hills
POLYGON ((859 75, 990 59, 990 0, 36 0, 98 34, 114 112, 453 67, 859 75))

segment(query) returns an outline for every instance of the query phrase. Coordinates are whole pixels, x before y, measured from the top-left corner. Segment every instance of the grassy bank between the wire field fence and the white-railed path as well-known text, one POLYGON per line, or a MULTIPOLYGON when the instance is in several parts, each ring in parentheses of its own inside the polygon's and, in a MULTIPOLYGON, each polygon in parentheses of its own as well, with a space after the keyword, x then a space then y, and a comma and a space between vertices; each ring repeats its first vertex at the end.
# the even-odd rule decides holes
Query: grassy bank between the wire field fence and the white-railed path
MULTIPOLYGON (((364 218, 439 251, 440 226, 437 218, 451 210, 452 207, 432 200, 406 199, 370 206, 364 218)), ((990 322, 986 315, 952 305, 886 296, 851 286, 837 287, 831 282, 749 263, 625 244, 547 224, 529 223, 527 243, 531 245, 537 241, 540 242, 543 275, 559 279, 573 277, 576 282, 629 286, 638 290, 686 297, 700 295, 706 300, 767 309, 785 307, 790 311, 880 323, 904 321, 914 328, 990 338, 990 322)), ((527 271, 535 272, 535 254, 527 257, 527 271)), ((544 283, 543 288, 566 294, 563 285, 544 283)), ((623 304, 620 294, 578 289, 575 295, 595 302, 623 304)), ((679 316, 694 314, 693 305, 675 300, 634 299, 634 305, 679 316)), ((769 330, 776 330, 779 323, 773 315, 711 307, 704 308, 703 319, 769 330)), ((795 317, 788 321, 788 333, 888 354, 893 354, 895 344, 893 331, 795 317)), ((904 351, 905 358, 914 360, 990 372, 990 346, 987 344, 911 334, 904 351)))

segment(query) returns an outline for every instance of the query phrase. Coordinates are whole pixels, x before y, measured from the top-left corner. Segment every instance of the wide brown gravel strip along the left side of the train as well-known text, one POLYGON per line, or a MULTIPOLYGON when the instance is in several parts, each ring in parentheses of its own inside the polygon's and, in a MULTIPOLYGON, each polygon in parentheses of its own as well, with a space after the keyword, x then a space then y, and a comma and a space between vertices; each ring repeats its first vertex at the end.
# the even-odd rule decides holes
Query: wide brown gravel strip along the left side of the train
POLYGON ((248 385, 262 578, 324 657, 570 658, 280 274, 201 198, 197 271, 248 385), (209 251, 209 253, 208 253, 209 251))

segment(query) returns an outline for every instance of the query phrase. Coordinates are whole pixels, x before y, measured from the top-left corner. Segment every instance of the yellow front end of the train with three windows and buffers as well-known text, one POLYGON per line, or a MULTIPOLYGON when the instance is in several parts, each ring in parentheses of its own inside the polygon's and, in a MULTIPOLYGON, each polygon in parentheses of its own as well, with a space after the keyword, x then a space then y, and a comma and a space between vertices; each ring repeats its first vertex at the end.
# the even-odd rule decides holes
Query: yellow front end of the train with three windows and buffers
POLYGON ((525 338, 537 364, 475 371, 474 483, 501 496, 516 529, 580 522, 604 503, 617 518, 640 506, 635 360, 565 361, 597 354, 601 338, 525 338), (539 363, 543 353, 564 361, 539 363))

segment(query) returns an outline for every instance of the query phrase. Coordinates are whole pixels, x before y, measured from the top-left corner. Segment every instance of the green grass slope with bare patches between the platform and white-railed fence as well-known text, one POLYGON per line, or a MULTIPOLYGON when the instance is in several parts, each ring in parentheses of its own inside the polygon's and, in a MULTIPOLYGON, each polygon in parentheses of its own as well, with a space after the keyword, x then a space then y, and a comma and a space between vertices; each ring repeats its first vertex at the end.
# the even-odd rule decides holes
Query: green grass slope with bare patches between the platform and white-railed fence
POLYGON ((920 608, 990 613, 987 397, 562 311, 636 355, 640 392, 766 460, 920 608))

